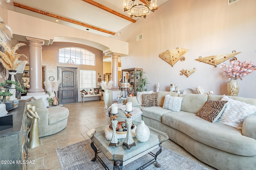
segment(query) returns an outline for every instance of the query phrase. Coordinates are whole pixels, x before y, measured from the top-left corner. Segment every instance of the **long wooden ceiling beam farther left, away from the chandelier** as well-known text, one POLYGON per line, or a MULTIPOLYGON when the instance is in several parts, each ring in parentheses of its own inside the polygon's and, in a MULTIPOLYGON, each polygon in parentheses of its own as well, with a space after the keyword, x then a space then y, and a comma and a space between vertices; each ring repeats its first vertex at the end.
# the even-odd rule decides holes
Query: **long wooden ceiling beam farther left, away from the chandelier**
POLYGON ((19 8, 22 8, 22 9, 25 9, 25 10, 29 10, 29 11, 32 11, 32 12, 36 12, 36 13, 39 13, 39 14, 43 14, 43 15, 46 15, 46 16, 50 16, 52 18, 57 18, 59 20, 63 20, 63 21, 67 21, 67 22, 70 22, 70 23, 74 23, 74 24, 77 24, 77 25, 81 25, 83 27, 88 27, 88 28, 91 28, 91 29, 95 29, 97 31, 101 31, 101 32, 104 32, 104 33, 108 33, 108 34, 111 34, 111 35, 115 35, 114 32, 111 32, 111 31, 107 31, 105 29, 101 29, 101 28, 98 28, 98 27, 94 27, 92 25, 88 25, 88 24, 85 24, 85 23, 82 23, 82 22, 78 22, 78 21, 75 21, 75 20, 70 20, 68 18, 65 18, 65 17, 62 17, 62 16, 57 16, 55 14, 51 14, 51 13, 48 13, 48 12, 45 12, 45 11, 41 11, 41 10, 38 10, 38 9, 35 9, 35 8, 32 8, 32 7, 29 7, 29 6, 25 6, 25 5, 22 5, 22 4, 18 4, 16 2, 13 2, 14 6, 16 7, 19 7, 19 8))

